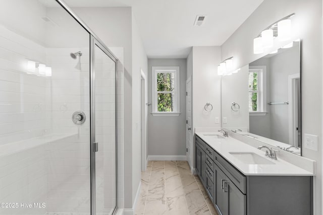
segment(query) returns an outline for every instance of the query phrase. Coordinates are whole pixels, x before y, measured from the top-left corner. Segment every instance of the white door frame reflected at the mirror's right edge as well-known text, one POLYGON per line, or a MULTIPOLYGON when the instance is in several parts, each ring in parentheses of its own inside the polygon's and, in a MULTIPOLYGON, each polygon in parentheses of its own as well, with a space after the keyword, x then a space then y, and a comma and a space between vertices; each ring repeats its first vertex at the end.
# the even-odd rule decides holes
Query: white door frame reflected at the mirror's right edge
MULTIPOLYGON (((298 111, 297 111, 297 104, 298 101, 296 99, 297 92, 296 92, 296 80, 300 79, 300 74, 296 73, 293 75, 288 76, 288 101, 289 101, 289 107, 288 107, 288 130, 289 130, 289 144, 292 146, 298 147, 298 142, 296 144, 296 140, 298 139, 298 132, 295 130, 296 124, 298 123, 298 111)), ((299 98, 300 99, 300 98, 299 98)), ((299 110, 300 111, 300 110, 299 110)), ((298 129, 300 128, 300 125, 298 125, 298 129)))

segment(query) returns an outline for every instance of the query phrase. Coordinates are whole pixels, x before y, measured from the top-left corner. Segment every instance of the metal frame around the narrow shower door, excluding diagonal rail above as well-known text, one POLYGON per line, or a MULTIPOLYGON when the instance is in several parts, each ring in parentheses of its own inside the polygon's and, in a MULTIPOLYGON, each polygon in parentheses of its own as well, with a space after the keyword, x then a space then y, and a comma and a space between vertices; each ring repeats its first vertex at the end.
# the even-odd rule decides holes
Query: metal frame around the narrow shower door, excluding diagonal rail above
POLYGON ((108 57, 115 62, 115 105, 116 105, 116 205, 112 212, 114 214, 118 208, 118 100, 117 100, 117 89, 118 89, 118 58, 113 57, 110 50, 97 40, 93 35, 90 34, 90 180, 91 180, 91 215, 96 214, 96 175, 95 175, 95 46, 100 48, 108 57))

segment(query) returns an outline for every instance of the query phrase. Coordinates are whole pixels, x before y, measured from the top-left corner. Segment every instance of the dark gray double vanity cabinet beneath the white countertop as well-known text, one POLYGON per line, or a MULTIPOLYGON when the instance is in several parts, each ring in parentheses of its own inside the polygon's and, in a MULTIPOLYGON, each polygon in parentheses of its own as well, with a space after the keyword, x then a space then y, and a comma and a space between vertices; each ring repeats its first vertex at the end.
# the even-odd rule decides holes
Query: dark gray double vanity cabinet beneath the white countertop
POLYGON ((312 215, 312 176, 246 176, 195 138, 196 172, 222 215, 312 215))

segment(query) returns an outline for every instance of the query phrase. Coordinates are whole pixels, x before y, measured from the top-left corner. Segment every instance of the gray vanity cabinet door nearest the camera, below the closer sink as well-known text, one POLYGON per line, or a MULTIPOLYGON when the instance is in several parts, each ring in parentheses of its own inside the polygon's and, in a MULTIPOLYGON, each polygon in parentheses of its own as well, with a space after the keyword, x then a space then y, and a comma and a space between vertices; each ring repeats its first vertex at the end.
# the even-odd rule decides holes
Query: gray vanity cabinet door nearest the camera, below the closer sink
POLYGON ((244 195, 231 181, 227 186, 229 191, 229 214, 246 215, 246 195, 244 195))

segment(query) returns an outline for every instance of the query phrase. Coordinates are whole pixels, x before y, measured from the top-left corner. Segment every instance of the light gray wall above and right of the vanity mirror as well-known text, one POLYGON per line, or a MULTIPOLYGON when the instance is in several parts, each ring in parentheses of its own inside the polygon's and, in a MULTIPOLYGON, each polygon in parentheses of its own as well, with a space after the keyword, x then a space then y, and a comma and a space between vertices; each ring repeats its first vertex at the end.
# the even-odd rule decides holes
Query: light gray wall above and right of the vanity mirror
MULTIPOLYGON (((321 214, 322 160, 322 1, 265 0, 222 45, 222 59, 234 56, 236 67, 244 66, 261 55, 253 54, 253 38, 264 28, 295 13, 293 26, 302 39, 302 137, 318 135, 318 151, 302 147, 302 155, 315 160, 314 214, 321 214), (315 105, 309 105, 315 104, 315 105)), ((296 39, 296 38, 295 38, 296 39)))

